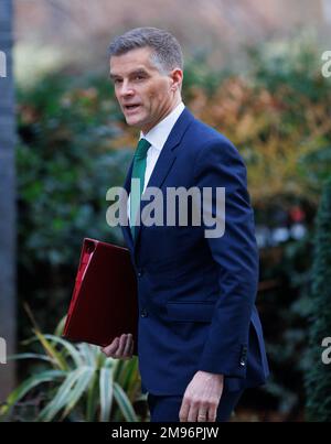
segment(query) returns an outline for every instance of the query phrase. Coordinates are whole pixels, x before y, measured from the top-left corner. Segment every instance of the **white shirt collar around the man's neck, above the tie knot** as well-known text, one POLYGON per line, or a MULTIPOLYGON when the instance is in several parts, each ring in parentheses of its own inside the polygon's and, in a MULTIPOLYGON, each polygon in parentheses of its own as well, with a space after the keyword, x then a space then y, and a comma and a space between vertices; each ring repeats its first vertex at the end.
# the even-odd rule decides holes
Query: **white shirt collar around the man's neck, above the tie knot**
POLYGON ((161 151, 174 123, 184 110, 185 106, 181 101, 163 120, 156 124, 146 134, 140 131, 140 139, 145 138, 157 150, 161 151))

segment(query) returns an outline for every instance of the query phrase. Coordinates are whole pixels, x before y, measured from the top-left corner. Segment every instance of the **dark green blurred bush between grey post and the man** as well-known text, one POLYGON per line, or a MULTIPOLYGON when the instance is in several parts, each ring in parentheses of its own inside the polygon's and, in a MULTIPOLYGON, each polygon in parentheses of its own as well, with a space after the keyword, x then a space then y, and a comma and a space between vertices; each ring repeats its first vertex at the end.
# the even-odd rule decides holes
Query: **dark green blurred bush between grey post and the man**
POLYGON ((19 93, 19 293, 46 331, 67 310, 83 238, 122 243, 106 224, 106 192, 122 185, 132 151, 114 149, 110 85, 85 82, 58 75, 19 93))

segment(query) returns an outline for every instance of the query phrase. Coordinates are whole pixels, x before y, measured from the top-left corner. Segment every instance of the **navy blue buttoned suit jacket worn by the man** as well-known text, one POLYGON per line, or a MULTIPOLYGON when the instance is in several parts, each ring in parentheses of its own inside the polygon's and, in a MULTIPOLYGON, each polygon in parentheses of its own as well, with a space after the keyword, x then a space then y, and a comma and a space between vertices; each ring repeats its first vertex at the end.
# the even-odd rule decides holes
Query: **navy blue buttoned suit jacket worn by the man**
MULTIPOLYGON (((132 164, 125 188, 130 192, 132 164)), ((183 394, 197 370, 225 376, 225 390, 268 376, 255 306, 258 250, 246 167, 234 145, 185 108, 157 161, 148 187, 225 187, 225 232, 204 226, 143 226, 125 240, 137 271, 138 358, 142 391, 183 394)), ((166 201, 166 199, 164 199, 166 201)), ((141 210, 148 202, 141 203, 141 210)), ((215 201, 213 197, 213 212, 215 201)))

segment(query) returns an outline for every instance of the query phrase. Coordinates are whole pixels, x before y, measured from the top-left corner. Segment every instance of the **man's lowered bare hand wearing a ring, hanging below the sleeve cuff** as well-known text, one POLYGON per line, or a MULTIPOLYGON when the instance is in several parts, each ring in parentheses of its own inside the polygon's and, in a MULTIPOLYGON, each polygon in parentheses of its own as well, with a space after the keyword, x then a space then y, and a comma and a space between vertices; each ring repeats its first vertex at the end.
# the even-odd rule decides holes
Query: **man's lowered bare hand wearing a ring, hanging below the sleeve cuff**
POLYGON ((185 390, 180 422, 215 422, 223 386, 223 375, 197 371, 185 390))

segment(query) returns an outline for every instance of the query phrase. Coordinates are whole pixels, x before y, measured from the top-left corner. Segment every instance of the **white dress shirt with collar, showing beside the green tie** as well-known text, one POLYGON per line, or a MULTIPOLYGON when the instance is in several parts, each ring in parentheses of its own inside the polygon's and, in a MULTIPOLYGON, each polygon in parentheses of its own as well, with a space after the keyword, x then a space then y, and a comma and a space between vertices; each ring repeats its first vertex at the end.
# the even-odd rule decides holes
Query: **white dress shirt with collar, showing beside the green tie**
MULTIPOLYGON (((181 101, 163 120, 161 120, 158 124, 156 124, 150 131, 146 134, 140 131, 140 139, 146 139, 151 145, 147 151, 147 159, 146 159, 146 171, 145 171, 145 181, 143 181, 143 189, 150 180, 150 176, 153 172, 156 163, 159 159, 161 150, 174 126, 180 115, 183 112, 185 106, 181 101)), ((130 220, 130 196, 128 198, 128 218, 130 220)))

